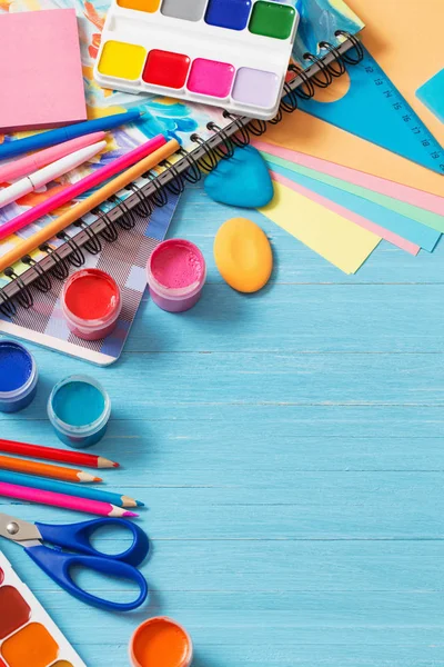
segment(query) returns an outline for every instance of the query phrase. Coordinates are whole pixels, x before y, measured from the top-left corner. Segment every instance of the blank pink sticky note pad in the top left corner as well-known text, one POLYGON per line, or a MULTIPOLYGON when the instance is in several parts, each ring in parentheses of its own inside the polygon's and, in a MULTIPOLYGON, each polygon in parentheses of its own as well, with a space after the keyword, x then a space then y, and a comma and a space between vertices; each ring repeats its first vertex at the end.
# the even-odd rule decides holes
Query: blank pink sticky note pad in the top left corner
POLYGON ((87 119, 75 10, 0 14, 0 131, 87 119))

